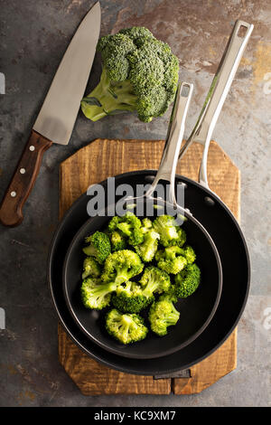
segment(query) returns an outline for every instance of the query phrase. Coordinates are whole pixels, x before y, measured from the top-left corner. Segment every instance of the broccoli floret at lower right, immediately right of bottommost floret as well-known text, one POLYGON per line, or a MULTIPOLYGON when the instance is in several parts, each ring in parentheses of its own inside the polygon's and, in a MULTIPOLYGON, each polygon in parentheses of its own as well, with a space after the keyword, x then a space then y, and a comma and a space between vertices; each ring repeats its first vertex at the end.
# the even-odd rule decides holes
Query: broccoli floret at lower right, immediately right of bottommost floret
POLYGON ((180 313, 173 305, 175 301, 172 294, 163 294, 150 307, 148 318, 155 334, 166 335, 168 326, 174 326, 178 322, 180 313))

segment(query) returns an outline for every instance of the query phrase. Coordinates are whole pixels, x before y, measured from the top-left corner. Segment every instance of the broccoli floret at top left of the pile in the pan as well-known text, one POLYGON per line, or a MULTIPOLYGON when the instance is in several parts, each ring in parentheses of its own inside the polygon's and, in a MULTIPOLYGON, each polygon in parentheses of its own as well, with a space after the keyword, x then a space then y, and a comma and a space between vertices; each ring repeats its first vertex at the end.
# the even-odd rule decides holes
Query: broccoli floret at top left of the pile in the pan
POLYGON ((130 245, 138 245, 144 241, 141 221, 134 213, 128 212, 123 217, 115 216, 108 223, 108 232, 120 231, 130 245))

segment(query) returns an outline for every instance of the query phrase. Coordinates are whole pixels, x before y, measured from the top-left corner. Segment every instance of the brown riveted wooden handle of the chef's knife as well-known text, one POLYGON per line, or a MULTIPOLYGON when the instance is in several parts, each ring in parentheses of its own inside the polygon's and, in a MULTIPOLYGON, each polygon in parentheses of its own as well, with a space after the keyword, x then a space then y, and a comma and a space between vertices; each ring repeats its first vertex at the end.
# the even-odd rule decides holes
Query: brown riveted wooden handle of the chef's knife
POLYGON ((42 156, 51 145, 50 140, 32 130, 0 204, 0 222, 5 226, 14 227, 23 221, 23 204, 39 174, 42 156))

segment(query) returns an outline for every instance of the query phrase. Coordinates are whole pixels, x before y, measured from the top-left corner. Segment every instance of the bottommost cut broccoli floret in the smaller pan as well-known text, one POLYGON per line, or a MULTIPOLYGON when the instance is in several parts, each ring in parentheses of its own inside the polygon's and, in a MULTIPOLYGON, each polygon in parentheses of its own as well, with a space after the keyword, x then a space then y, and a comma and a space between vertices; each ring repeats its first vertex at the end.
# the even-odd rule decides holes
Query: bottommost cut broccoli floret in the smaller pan
POLYGON ((109 335, 125 345, 145 339, 148 333, 141 316, 122 314, 116 308, 107 313, 106 329, 109 335))

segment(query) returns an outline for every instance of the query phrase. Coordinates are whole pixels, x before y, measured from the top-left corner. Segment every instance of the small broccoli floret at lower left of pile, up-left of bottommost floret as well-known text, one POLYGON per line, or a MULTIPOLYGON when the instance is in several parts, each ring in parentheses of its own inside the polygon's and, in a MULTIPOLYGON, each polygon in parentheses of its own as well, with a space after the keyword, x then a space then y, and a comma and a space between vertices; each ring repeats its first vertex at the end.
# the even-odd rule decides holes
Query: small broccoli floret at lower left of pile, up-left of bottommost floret
POLYGON ((107 307, 116 288, 116 283, 104 283, 97 278, 84 279, 81 285, 81 299, 84 306, 96 310, 107 307))

